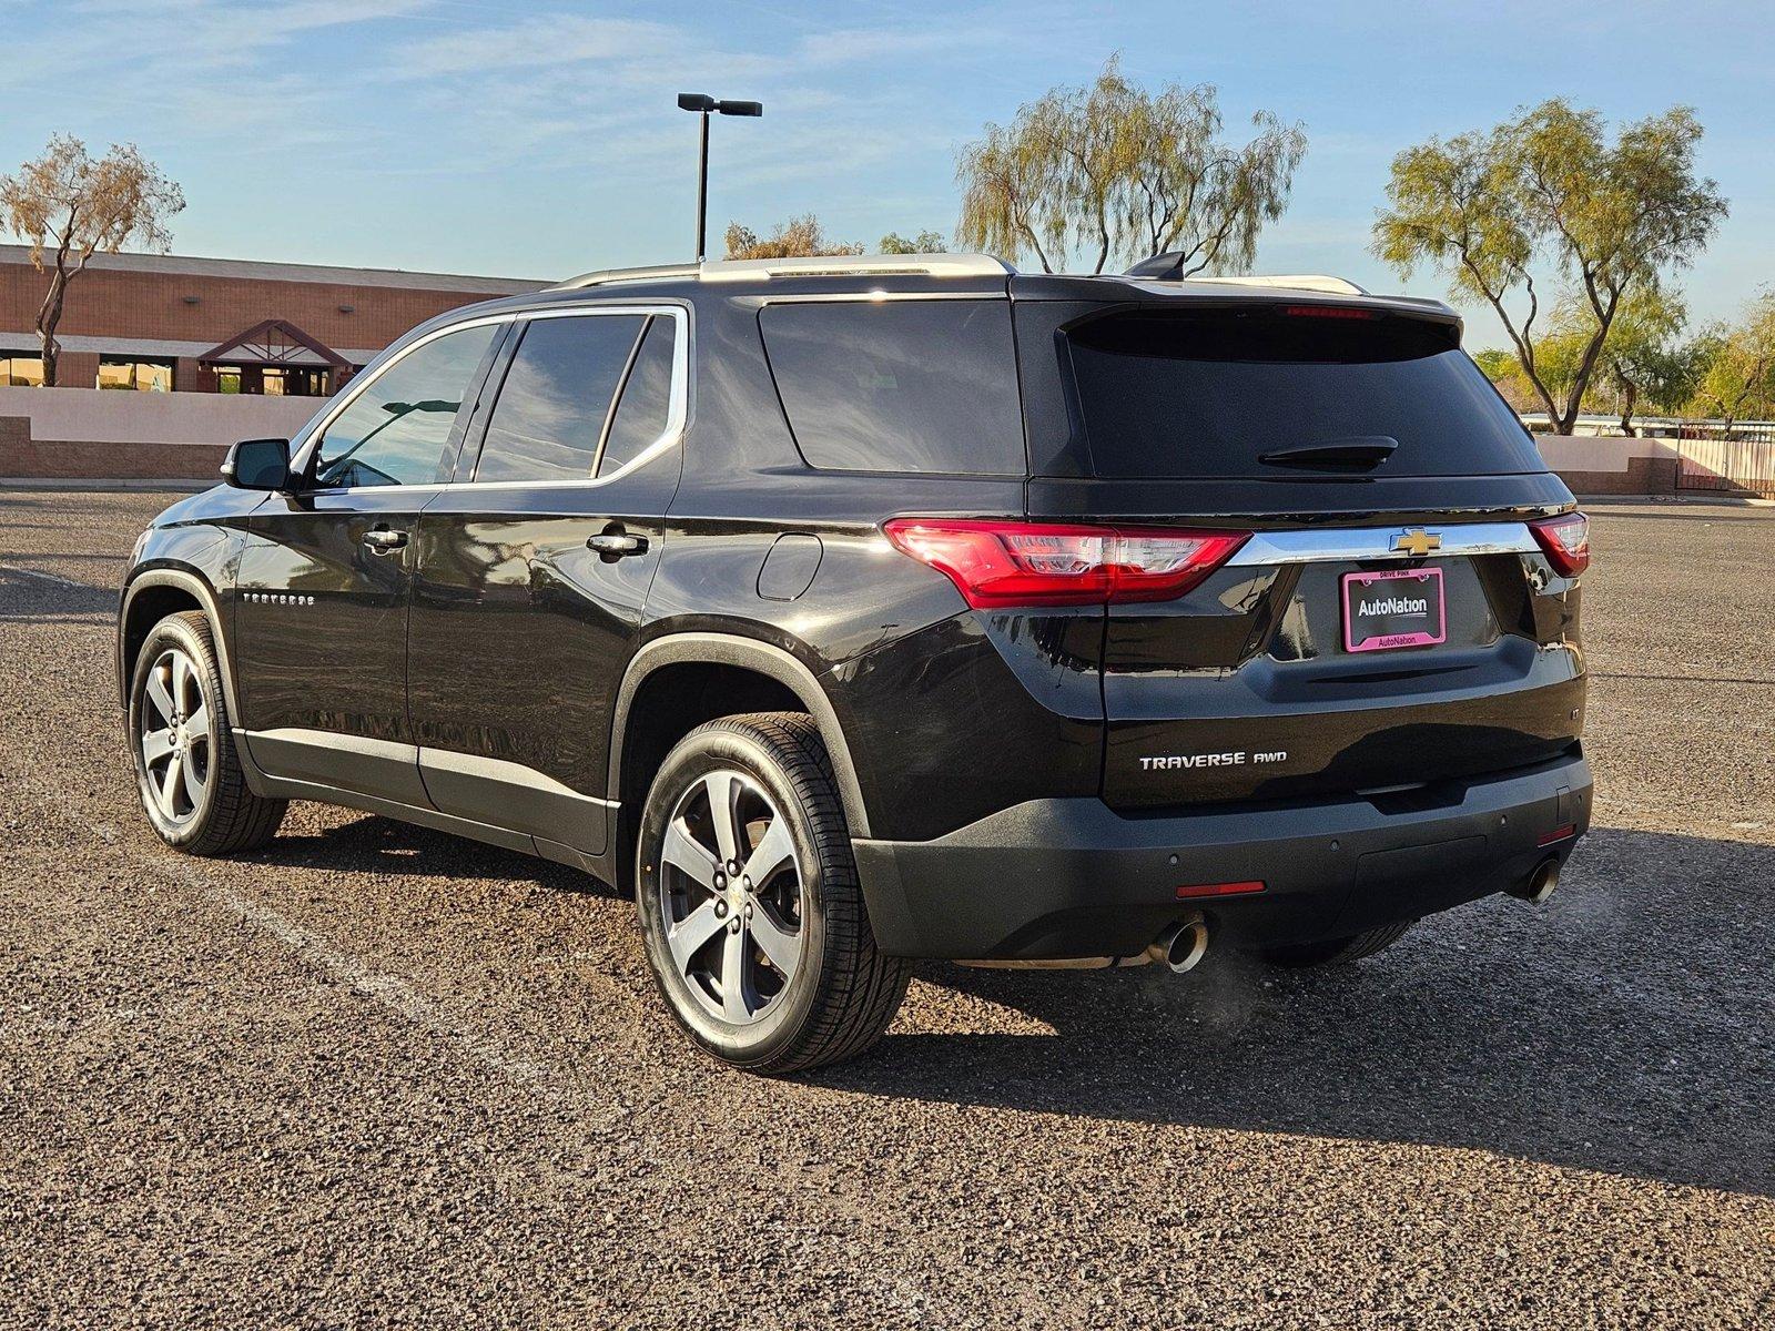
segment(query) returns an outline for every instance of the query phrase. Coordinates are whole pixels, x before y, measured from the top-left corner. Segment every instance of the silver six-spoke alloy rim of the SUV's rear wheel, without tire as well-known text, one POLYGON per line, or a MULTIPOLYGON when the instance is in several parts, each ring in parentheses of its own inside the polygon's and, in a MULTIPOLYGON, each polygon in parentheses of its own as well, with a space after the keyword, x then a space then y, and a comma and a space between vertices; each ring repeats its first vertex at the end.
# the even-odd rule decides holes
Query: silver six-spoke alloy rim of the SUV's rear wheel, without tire
POLYGON ((788 818, 722 768, 680 795, 659 852, 660 919, 678 978, 712 1017, 767 1017, 802 962, 804 878, 788 818))

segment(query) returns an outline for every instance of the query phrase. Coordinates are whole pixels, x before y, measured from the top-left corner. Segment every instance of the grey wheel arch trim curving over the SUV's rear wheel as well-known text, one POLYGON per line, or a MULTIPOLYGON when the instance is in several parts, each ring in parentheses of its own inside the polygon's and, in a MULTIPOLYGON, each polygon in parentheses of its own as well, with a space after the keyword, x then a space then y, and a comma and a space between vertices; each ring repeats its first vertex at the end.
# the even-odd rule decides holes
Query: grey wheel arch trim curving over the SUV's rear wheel
MULTIPOLYGON (((632 768, 639 747, 637 740, 641 740, 635 733, 635 726, 632 724, 637 717, 635 701, 643 697, 648 680, 669 678, 660 676, 660 673, 682 667, 740 671, 754 680, 765 681, 767 687, 738 690, 733 697, 735 705, 728 706, 724 712, 717 712, 715 715, 788 708, 788 701, 793 699, 799 706, 788 710, 801 710, 813 717, 815 726, 820 729, 820 738, 831 754, 832 776, 838 779, 838 793, 845 807, 845 822, 850 834, 870 834, 868 809, 863 804, 863 788, 857 783, 856 765, 850 761, 850 747, 845 742, 838 712, 825 696, 825 689, 820 685, 820 680, 806 664, 779 646, 742 637, 738 634, 667 634, 644 644, 630 658, 611 713, 609 790, 612 799, 621 800, 616 838, 612 843, 612 870, 616 873, 618 886, 627 887, 628 878, 632 877, 628 852, 632 850, 635 825, 639 822, 641 800, 632 799, 632 786, 637 776, 632 768)), ((706 719, 712 717, 698 717, 696 724, 701 724, 701 721, 706 719)), ((664 754, 659 756, 664 758, 664 754)))

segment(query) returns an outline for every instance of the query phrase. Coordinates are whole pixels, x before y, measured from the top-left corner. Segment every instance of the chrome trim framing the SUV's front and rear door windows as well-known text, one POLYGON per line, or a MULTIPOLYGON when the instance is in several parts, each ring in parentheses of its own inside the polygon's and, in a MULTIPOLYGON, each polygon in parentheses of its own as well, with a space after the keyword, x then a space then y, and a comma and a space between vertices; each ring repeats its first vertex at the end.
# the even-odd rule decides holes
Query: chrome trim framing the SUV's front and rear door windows
POLYGON ((339 399, 327 406, 327 410, 318 415, 309 426, 307 435, 302 440, 302 447, 291 460, 293 472, 305 472, 314 458, 314 451, 320 447, 321 438, 327 435, 327 428, 332 426, 339 415, 357 401, 359 394, 369 389, 371 383, 387 374, 394 366, 401 364, 408 355, 417 351, 421 346, 435 343, 440 337, 449 337, 454 332, 463 332, 465 328, 485 328, 488 325, 518 323, 529 319, 572 319, 572 318, 596 318, 602 314, 664 314, 673 321, 673 364, 671 364, 671 390, 669 401, 666 405, 666 429, 648 444, 641 453, 630 458, 627 463, 618 467, 609 476, 582 476, 561 481, 428 481, 424 484, 344 484, 344 486, 316 486, 312 490, 304 490, 304 495, 357 495, 357 493, 424 493, 433 490, 561 490, 561 488, 584 488, 600 486, 618 481, 641 467, 646 467, 657 456, 674 447, 683 440, 683 433, 690 422, 690 307, 678 302, 598 302, 586 305, 566 305, 550 309, 520 309, 520 311, 502 311, 499 314, 481 314, 472 319, 462 319, 460 323, 451 323, 444 328, 433 328, 424 337, 415 337, 412 343, 403 346, 383 364, 376 366, 375 374, 360 374, 357 380, 346 387, 339 399))

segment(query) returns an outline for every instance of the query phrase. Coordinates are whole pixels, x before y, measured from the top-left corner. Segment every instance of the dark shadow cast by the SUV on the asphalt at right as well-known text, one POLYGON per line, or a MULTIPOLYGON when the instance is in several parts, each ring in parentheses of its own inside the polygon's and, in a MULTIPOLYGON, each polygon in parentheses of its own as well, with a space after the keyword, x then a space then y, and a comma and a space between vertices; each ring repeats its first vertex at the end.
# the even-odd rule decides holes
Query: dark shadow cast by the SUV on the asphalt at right
POLYGON ((891 1035, 816 1081, 1775 1194, 1771 878, 1775 847, 1598 831, 1546 907, 1491 898, 1353 967, 925 965, 951 990, 927 1006, 973 1008, 937 1022, 1003 1028, 999 1004, 1024 1033, 891 1035))

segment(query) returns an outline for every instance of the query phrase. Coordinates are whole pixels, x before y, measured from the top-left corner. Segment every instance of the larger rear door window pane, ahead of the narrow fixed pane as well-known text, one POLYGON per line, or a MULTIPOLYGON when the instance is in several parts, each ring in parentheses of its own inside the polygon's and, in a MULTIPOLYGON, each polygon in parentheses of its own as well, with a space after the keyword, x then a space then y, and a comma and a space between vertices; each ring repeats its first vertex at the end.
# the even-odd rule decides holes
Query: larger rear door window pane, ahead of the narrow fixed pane
POLYGON ((476 481, 584 481, 646 318, 532 319, 486 422, 476 481))

